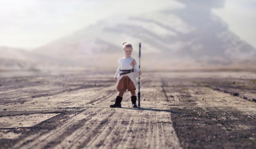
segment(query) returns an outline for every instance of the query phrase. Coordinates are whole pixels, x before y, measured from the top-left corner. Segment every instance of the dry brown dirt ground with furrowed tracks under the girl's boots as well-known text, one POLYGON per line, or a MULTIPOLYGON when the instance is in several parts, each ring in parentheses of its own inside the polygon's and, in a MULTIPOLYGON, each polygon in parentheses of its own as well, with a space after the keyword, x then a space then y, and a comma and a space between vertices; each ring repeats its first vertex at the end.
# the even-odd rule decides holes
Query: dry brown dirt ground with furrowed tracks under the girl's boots
POLYGON ((0 148, 256 148, 256 72, 145 71, 140 109, 113 73, 1 78, 0 148))

